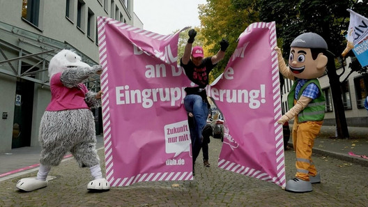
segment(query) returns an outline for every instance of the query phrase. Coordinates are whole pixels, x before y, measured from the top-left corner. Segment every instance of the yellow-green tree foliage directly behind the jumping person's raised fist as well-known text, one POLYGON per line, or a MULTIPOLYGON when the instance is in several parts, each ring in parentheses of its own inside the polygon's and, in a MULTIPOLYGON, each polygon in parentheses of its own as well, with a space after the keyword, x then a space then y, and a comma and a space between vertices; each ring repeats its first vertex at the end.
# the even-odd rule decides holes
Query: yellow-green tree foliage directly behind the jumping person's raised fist
POLYGON ((249 24, 259 21, 255 7, 255 0, 207 0, 207 4, 199 6, 199 20, 201 20, 199 33, 204 36, 208 53, 217 53, 222 38, 226 38, 230 43, 224 60, 212 70, 210 81, 224 72, 231 54, 236 49, 240 33, 249 24))

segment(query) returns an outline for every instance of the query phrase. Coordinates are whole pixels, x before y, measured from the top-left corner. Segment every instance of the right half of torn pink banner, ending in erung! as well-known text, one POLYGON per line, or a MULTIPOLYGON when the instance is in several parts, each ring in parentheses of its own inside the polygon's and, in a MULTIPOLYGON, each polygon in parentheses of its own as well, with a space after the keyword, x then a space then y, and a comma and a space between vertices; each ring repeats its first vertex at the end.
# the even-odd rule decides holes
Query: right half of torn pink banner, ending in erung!
POLYGON ((218 166, 285 186, 275 22, 250 24, 224 73, 207 88, 224 115, 218 166))

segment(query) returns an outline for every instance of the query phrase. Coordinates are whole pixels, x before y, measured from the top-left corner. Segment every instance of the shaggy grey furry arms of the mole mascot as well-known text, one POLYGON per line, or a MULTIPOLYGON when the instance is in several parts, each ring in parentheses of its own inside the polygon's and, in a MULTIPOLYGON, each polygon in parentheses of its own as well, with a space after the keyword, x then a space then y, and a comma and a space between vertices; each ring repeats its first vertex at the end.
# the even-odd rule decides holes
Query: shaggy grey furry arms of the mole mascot
MULTIPOLYGON (((72 88, 78 86, 78 84, 83 83, 86 79, 91 77, 91 75, 96 74, 97 71, 101 70, 101 66, 93 66, 91 68, 77 68, 64 70, 61 74, 60 81, 64 86, 72 88)), ((86 93, 86 98, 84 101, 89 107, 100 107, 101 100, 95 98, 97 93, 89 91, 86 93)))

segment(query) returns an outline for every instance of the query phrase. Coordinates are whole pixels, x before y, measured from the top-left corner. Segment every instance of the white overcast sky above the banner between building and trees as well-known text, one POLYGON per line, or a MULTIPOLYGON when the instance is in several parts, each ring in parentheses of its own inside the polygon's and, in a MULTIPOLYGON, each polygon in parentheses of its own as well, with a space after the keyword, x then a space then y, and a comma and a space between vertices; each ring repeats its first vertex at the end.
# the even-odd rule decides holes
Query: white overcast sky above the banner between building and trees
POLYGON ((199 4, 206 0, 134 0, 134 12, 143 29, 166 35, 185 26, 199 26, 199 4))

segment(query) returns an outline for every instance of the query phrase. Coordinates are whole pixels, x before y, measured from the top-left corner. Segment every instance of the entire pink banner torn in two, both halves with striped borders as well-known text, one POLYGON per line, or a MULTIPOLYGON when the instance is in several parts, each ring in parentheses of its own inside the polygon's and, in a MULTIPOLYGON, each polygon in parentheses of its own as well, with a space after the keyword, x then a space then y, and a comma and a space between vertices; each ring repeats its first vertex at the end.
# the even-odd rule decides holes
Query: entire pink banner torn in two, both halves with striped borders
MULTIPOLYGON (((98 17, 107 181, 192 180, 183 107, 191 82, 177 66, 178 33, 163 36, 98 17)), ((219 167, 285 185, 275 22, 241 35, 208 95, 225 118, 219 167)))

